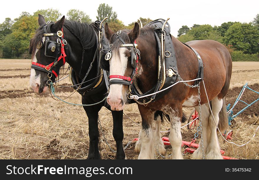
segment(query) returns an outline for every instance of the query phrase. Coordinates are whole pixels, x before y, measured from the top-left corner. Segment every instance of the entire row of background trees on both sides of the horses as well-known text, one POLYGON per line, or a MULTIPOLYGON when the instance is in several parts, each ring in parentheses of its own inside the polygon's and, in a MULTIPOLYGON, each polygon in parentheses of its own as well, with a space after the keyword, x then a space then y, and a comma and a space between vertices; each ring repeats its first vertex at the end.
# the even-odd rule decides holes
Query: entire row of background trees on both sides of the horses
MULTIPOLYGON (((0 24, 0 58, 30 58, 28 54, 29 39, 34 36, 39 27, 38 14, 43 15, 46 21, 57 21, 62 17, 59 10, 51 8, 40 9, 33 14, 22 12, 14 20, 6 18, 0 24)), ((112 10, 112 7, 105 3, 99 5, 96 19, 101 21, 104 17, 108 17, 107 22, 113 31, 124 28, 132 29, 137 21, 124 25, 117 18, 117 13, 112 10)), ((89 15, 78 9, 70 9, 66 14, 66 19, 70 21, 78 21, 79 18, 83 23, 92 22, 89 15)), ((142 17, 140 20, 143 26, 152 21, 150 18, 142 17)), ((231 54, 235 52, 256 54, 259 52, 259 14, 251 23, 227 22, 214 27, 209 24, 194 24, 190 28, 185 25, 178 30, 177 39, 182 42, 212 39, 225 44, 231 54)))

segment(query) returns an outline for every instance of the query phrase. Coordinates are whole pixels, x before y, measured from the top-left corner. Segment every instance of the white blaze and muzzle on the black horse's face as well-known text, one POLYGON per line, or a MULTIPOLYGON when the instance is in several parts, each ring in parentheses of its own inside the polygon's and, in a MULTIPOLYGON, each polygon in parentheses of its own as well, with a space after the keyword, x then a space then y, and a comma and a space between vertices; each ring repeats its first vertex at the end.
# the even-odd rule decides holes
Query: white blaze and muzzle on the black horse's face
MULTIPOLYGON (((42 38, 43 43, 44 43, 44 41, 45 41, 45 37, 42 38)), ((36 49, 32 62, 37 62, 36 54, 38 51, 39 51, 39 49, 36 49)), ((34 90, 34 92, 36 92, 36 93, 39 92, 40 83, 41 83, 41 75, 39 74, 38 76, 36 76, 35 69, 31 68, 30 85, 31 85, 32 89, 34 90)))

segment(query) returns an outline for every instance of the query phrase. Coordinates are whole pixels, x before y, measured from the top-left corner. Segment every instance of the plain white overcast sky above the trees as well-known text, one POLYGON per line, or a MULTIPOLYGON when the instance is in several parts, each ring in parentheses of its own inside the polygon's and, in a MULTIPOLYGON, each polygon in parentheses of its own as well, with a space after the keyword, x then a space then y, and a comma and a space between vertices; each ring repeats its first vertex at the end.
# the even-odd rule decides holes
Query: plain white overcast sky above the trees
POLYGON ((0 23, 6 17, 12 20, 22 11, 33 14, 38 9, 59 9, 66 16, 69 9, 84 11, 95 21, 99 4, 106 3, 117 12, 118 19, 125 25, 139 17, 150 19, 170 18, 171 34, 177 36, 182 25, 210 24, 212 26, 228 21, 251 22, 259 14, 258 0, 20 0, 1 1, 0 23), (158 4, 160 3, 160 4, 158 4), (167 3, 167 4, 165 4, 167 3), (58 5, 62 4, 62 5, 58 5))

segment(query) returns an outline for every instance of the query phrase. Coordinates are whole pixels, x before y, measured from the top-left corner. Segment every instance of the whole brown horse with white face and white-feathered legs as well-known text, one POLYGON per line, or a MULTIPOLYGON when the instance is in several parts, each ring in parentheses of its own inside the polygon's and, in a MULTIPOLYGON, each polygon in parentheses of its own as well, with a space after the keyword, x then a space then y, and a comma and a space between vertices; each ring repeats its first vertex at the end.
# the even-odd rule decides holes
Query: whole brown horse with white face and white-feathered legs
MULTIPOLYGON (((112 45, 112 57, 109 59, 110 74, 120 76, 131 76, 131 51, 127 47, 121 47, 121 44, 136 43, 137 48, 141 52, 141 60, 138 64, 138 73, 135 76, 135 82, 142 92, 147 92, 157 83, 157 44, 154 36, 154 30, 150 27, 140 29, 138 23, 135 23, 134 29, 122 30, 115 34, 105 24, 105 34, 112 45), (124 41, 122 43, 121 39, 124 41)), ((197 56, 189 47, 182 44, 175 37, 171 36, 173 46, 175 48, 175 56, 177 59, 178 74, 183 80, 191 80, 197 77, 197 56)), ((212 114, 220 131, 224 131, 228 127, 226 116, 224 96, 227 94, 231 71, 232 60, 228 50, 217 41, 202 40, 187 42, 189 46, 195 49, 202 57, 204 68, 204 83, 207 90, 208 99, 211 101, 212 114)), ((111 78, 114 80, 117 78, 111 78)), ((122 79, 117 79, 121 80, 122 79)), ((188 82, 194 85, 194 82, 188 82)), ((129 86, 125 84, 111 84, 107 97, 107 102, 111 105, 112 110, 122 110, 127 101, 127 92, 129 86)), ((172 145, 172 159, 182 159, 181 152, 181 117, 182 106, 198 108, 198 90, 197 88, 189 88, 183 83, 178 83, 170 89, 167 94, 155 102, 150 102, 147 106, 138 104, 138 108, 142 117, 142 130, 139 134, 139 141, 135 146, 135 150, 139 151, 139 159, 154 158, 155 147, 153 142, 152 122, 154 112, 161 110, 170 116, 170 135, 169 141, 172 145)), ((203 85, 200 86, 200 104, 202 112, 202 132, 205 159, 222 159, 220 154, 220 146, 217 137, 217 127, 215 125, 212 114, 208 111, 206 104, 207 99, 203 85)), ((162 143, 162 142, 161 142, 162 143)), ((201 142, 200 147, 192 155, 192 159, 202 159, 201 142)))

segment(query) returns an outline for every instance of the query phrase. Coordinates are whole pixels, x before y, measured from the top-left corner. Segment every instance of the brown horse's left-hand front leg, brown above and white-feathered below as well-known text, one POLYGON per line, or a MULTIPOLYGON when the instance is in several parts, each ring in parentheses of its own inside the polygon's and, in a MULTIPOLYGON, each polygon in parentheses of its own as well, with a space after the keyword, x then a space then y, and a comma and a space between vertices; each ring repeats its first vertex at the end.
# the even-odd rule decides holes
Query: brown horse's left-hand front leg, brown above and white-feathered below
POLYGON ((152 131, 154 112, 142 105, 138 107, 142 118, 142 129, 139 134, 141 149, 138 159, 154 159, 155 148, 152 131))

